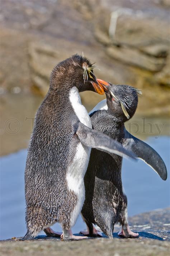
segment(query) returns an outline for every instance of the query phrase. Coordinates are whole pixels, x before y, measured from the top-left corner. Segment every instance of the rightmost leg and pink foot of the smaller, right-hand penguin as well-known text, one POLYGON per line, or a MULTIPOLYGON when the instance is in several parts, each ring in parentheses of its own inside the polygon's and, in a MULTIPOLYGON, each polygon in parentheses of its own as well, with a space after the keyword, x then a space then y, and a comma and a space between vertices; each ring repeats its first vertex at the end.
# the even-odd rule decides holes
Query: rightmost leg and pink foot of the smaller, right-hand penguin
POLYGON ((139 234, 132 232, 131 229, 129 228, 126 195, 123 195, 123 205, 125 205, 125 208, 122 209, 123 214, 120 220, 120 223, 122 224, 122 231, 118 232, 118 236, 122 238, 138 238, 139 234))

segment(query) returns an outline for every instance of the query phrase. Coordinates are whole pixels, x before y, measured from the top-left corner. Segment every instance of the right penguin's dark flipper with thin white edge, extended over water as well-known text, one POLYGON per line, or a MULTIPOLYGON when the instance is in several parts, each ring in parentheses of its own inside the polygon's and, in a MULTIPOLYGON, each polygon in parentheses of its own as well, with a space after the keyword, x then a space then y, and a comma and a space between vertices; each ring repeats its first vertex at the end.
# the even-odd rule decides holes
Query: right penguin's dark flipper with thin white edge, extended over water
POLYGON ((123 147, 135 153, 137 158, 143 160, 154 169, 162 180, 165 181, 167 179, 167 169, 160 155, 151 146, 134 137, 126 129, 124 129, 124 134, 123 147))

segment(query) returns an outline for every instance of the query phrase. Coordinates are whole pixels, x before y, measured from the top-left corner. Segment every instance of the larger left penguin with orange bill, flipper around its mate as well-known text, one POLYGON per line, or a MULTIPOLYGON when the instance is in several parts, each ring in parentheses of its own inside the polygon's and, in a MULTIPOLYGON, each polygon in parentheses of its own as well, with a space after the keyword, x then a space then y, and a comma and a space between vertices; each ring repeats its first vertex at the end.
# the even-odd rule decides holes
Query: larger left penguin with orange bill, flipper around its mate
POLYGON ((52 70, 49 91, 36 113, 25 168, 27 233, 33 239, 59 222, 63 240, 78 240, 71 227, 85 199, 84 175, 91 148, 134 158, 134 154, 108 136, 92 130, 79 92, 104 94, 103 80, 97 81, 94 66, 83 56, 73 55, 52 70), (102 83, 102 84, 101 84, 102 83))

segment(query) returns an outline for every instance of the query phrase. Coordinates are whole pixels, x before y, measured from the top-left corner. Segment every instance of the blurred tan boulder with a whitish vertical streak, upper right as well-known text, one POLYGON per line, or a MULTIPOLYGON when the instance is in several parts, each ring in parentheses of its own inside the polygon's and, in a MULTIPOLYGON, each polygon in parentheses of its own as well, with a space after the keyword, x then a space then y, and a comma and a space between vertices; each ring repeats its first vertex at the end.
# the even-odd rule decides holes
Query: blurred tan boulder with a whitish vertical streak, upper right
POLYGON ((95 29, 99 41, 100 38, 103 40, 104 33, 108 37, 105 43, 119 45, 138 47, 170 42, 167 8, 159 8, 154 0, 141 1, 136 5, 121 5, 121 2, 105 0, 98 5, 95 29), (107 17, 104 20, 102 13, 107 17))

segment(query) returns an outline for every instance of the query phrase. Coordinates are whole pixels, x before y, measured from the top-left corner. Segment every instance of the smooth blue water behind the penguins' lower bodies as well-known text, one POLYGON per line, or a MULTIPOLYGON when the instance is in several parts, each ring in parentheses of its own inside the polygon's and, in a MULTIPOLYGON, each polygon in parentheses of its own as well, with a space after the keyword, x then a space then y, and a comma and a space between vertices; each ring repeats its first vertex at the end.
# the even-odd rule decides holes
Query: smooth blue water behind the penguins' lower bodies
MULTIPOLYGON (((161 155, 169 171, 170 138, 150 137, 146 142, 161 155)), ((26 233, 24 220, 26 157, 27 150, 21 150, 0 158, 0 239, 20 237, 26 233)), ((132 162, 124 159, 122 180, 128 197, 129 216, 170 205, 170 176, 168 175, 166 181, 162 181, 143 161, 132 162)), ((59 224, 55 224, 53 229, 61 231, 59 224)), ((82 229, 85 229, 85 223, 79 216, 72 231, 77 233, 82 229)))

